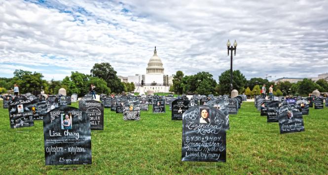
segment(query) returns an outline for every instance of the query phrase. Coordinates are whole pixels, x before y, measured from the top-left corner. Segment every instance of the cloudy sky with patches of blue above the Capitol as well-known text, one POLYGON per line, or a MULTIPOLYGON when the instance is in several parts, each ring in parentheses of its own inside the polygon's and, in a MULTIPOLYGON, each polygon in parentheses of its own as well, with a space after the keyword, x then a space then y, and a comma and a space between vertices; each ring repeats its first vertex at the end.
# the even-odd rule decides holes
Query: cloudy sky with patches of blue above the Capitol
POLYGON ((145 74, 154 46, 165 74, 233 69, 249 79, 328 72, 328 0, 0 0, 0 77, 61 80, 109 62, 145 74))

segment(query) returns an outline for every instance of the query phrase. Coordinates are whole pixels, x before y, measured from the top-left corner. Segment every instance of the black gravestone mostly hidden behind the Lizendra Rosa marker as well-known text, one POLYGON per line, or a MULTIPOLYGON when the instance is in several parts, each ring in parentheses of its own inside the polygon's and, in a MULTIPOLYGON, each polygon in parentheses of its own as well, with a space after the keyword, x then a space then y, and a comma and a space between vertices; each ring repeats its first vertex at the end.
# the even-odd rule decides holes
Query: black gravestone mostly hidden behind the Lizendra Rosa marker
POLYGON ((216 109, 219 109, 223 114, 224 114, 224 123, 225 123, 225 130, 229 129, 229 109, 228 109, 228 99, 223 100, 223 99, 215 99, 215 100, 210 100, 206 103, 206 105, 213 106, 216 109))

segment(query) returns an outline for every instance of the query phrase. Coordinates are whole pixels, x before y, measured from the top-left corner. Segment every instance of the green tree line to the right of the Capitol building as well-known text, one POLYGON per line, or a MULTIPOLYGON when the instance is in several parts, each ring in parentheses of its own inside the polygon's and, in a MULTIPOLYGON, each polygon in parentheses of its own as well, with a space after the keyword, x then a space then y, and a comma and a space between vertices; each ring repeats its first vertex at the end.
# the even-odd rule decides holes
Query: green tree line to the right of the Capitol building
MULTIPOLYGON (((240 70, 234 70, 232 74, 233 88, 237 89, 239 94, 245 93, 247 96, 260 95, 263 84, 266 84, 267 93, 269 87, 273 85, 273 94, 275 96, 308 96, 316 89, 320 92, 328 92, 328 82, 325 79, 314 82, 311 79, 304 78, 297 83, 286 81, 275 84, 264 78, 254 77, 247 80, 240 70)), ((176 94, 230 94, 230 70, 222 72, 218 80, 217 83, 209 72, 202 71, 194 75, 184 75, 179 70, 173 77, 173 85, 170 87, 170 91, 176 94)))

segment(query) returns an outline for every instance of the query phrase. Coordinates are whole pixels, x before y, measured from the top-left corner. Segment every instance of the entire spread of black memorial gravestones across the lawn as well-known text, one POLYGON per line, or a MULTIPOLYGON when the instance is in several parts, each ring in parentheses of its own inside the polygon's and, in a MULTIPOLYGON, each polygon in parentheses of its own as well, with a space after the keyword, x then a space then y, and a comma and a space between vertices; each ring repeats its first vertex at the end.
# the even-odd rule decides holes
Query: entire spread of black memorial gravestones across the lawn
MULTIPOLYGON (((34 126, 34 120, 43 120, 46 165, 91 164, 91 130, 104 130, 104 107, 122 113, 123 120, 140 120, 140 110, 148 110, 148 105, 153 113, 165 113, 165 105, 170 105, 172 120, 182 120, 182 161, 225 162, 229 114, 237 114, 246 101, 244 95, 194 95, 190 100, 184 95, 101 95, 100 103, 87 94, 75 108, 67 105, 76 102, 76 94, 1 98, 9 111, 11 128, 34 126)), ((255 97, 260 115, 267 116, 267 122, 279 122, 281 134, 304 131, 302 115, 308 115, 313 105, 323 108, 323 98, 255 97)))

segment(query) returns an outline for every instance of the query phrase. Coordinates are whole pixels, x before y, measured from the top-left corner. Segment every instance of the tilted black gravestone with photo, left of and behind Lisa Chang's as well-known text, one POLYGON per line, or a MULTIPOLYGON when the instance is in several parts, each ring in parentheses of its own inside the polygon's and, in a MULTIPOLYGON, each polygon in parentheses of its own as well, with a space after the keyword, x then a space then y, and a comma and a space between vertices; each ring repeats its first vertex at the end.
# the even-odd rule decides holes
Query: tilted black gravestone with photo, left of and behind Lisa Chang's
POLYGON ((33 104, 25 96, 16 96, 9 102, 9 121, 11 128, 34 126, 33 104))

